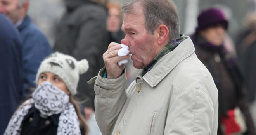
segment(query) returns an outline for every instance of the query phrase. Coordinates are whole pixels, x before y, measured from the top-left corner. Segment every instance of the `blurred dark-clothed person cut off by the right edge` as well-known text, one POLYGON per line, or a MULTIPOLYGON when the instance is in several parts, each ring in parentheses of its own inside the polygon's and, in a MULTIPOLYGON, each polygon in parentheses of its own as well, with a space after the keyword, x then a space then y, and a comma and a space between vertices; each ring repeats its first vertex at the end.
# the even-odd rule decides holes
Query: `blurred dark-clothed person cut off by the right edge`
POLYGON ((249 12, 244 19, 244 26, 239 31, 236 40, 236 49, 239 65, 244 73, 248 88, 250 110, 256 123, 256 11, 249 12))

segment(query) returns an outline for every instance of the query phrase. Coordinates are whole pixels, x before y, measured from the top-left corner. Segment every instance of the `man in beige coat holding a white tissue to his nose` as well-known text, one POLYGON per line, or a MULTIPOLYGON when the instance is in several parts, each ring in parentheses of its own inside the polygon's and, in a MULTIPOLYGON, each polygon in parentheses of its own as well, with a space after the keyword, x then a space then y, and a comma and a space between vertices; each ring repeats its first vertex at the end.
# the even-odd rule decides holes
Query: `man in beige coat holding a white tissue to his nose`
POLYGON ((195 55, 190 37, 180 35, 172 0, 135 0, 122 7, 121 44, 140 68, 125 89, 120 44, 109 44, 106 67, 95 81, 96 120, 103 135, 216 135, 218 91, 195 55))

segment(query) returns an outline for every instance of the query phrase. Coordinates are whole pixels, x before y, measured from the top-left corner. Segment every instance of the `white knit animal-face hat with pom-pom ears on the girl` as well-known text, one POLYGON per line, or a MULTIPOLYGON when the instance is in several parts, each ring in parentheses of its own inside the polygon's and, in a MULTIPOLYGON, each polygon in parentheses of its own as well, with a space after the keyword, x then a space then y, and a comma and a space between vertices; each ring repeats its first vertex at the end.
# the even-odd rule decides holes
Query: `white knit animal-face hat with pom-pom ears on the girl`
POLYGON ((41 62, 36 74, 36 84, 38 84, 38 78, 41 73, 50 72, 59 76, 66 84, 71 95, 74 96, 77 93, 79 75, 85 73, 88 68, 89 65, 86 59, 76 61, 69 55, 55 52, 41 62))

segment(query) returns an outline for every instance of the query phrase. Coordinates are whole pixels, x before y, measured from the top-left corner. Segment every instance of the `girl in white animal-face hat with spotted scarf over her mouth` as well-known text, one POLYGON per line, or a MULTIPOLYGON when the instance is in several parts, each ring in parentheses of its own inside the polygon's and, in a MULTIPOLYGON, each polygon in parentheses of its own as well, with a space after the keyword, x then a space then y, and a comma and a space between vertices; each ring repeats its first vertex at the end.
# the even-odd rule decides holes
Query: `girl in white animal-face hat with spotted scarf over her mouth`
POLYGON ((12 116, 5 135, 87 135, 88 127, 73 96, 88 61, 55 52, 42 61, 37 88, 12 116))

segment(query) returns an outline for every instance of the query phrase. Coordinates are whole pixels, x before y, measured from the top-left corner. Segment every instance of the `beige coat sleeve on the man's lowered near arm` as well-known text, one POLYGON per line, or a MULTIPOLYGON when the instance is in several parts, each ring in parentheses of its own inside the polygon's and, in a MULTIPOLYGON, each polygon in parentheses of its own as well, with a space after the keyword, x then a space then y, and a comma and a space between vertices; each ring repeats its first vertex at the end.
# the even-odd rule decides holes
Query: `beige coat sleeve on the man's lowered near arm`
POLYGON ((170 105, 164 135, 216 135, 218 116, 214 114, 218 115, 218 103, 206 91, 187 90, 170 105))

